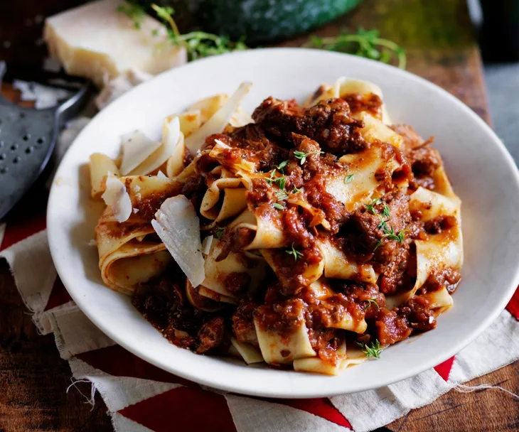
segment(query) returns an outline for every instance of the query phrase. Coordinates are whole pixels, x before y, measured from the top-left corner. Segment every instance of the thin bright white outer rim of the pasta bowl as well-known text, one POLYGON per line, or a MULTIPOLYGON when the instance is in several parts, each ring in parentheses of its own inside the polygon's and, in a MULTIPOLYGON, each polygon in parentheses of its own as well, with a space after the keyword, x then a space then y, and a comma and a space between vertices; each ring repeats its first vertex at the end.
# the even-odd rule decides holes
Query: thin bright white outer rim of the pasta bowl
MULTIPOLYGON (((414 80, 416 82, 419 82, 419 85, 428 87, 429 90, 432 90, 434 92, 439 92, 442 95, 442 97, 446 97, 449 100, 449 102, 456 105, 456 107, 458 109, 461 109, 466 114, 468 114, 469 117, 471 117, 471 120, 474 121, 475 124, 478 125, 478 127, 484 129, 484 131, 486 131, 486 133, 493 138, 491 140, 492 144, 488 144, 488 145, 493 146, 494 148, 496 148, 499 151, 500 156, 503 158, 503 160, 507 164, 508 168, 510 169, 510 173, 513 173, 513 179, 514 179, 513 185, 515 186, 515 191, 519 195, 519 170, 518 170, 518 167, 515 165, 515 162, 513 161, 512 156, 510 155, 508 150, 505 148, 505 145, 503 144, 501 139, 498 138, 496 133, 491 129, 491 127, 486 123, 486 121, 483 121, 483 119, 481 119, 481 117, 479 117, 478 114, 476 114, 476 112, 473 112, 472 109, 470 109, 466 104, 464 104, 464 102, 461 102, 461 100, 454 97, 454 95, 451 95, 451 93, 447 92, 446 90, 442 89, 442 87, 439 87, 438 85, 435 85, 432 82, 429 82, 428 80, 426 80, 422 77, 419 77, 418 75, 414 75, 413 73, 408 72, 407 70, 401 70, 392 65, 386 65, 386 64, 380 63, 376 60, 360 58, 358 56, 349 55, 349 54, 345 54, 345 53, 336 53, 336 52, 331 52, 331 51, 317 50, 317 49, 313 49, 313 48, 283 48, 283 47, 282 48, 255 48, 254 50, 238 51, 238 52, 218 55, 215 57, 196 60, 196 62, 187 63, 186 65, 182 65, 182 66, 180 66, 178 68, 174 68, 172 70, 166 70, 165 72, 162 72, 161 74, 156 75, 156 77, 152 78, 151 80, 149 80, 147 82, 144 82, 142 85, 139 85, 138 87, 140 88, 141 86, 144 87, 146 85, 149 85, 150 82, 153 82, 154 80, 157 80, 160 77, 164 77, 165 75, 178 73, 178 70, 185 70, 185 69, 191 68, 191 65, 193 65, 193 64, 200 65, 200 63, 210 63, 211 61, 213 61, 215 59, 220 60, 222 58, 227 58, 229 60, 232 60, 233 58, 237 58, 237 57, 249 57, 249 56, 255 56, 255 55, 262 55, 264 53, 267 53, 267 55, 268 55, 269 52, 278 52, 278 53, 279 52, 282 52, 282 53, 283 52, 285 52, 285 53, 297 52, 298 55, 299 54, 304 55, 305 52, 312 52, 312 53, 316 52, 316 53, 319 53, 319 55, 323 55, 323 57, 347 56, 348 58, 350 58, 349 61, 365 63, 365 64, 369 65, 370 68, 380 70, 380 73, 388 72, 388 73, 392 73, 392 74, 401 75, 403 78, 405 78, 405 80, 414 80)), ((112 109, 117 108, 118 105, 122 106, 126 102, 127 99, 130 99, 132 97, 132 93, 134 92, 135 88, 137 88, 137 87, 134 87, 134 89, 129 90, 129 92, 125 93, 124 95, 119 97, 116 101, 112 102, 112 104, 110 104, 112 106, 112 109)), ((102 112, 104 112, 104 110, 102 112)), ((102 112, 96 114, 95 117, 102 114, 102 112)), ((85 128, 85 129, 87 129, 87 128, 85 128)), ((76 137, 75 141, 70 146, 70 148, 72 148, 75 145, 75 143, 80 139, 82 134, 85 134, 85 129, 83 131, 81 131, 80 134, 76 137)), ((58 166, 58 169, 55 173, 55 178, 53 179, 52 187, 50 189, 50 195, 48 198, 48 207, 47 207, 47 213, 46 213, 47 229, 48 229, 48 242, 49 242, 49 247, 50 247, 50 253, 51 253, 55 268, 58 272, 58 276, 60 276, 60 279, 62 280, 65 288, 67 288, 68 293, 70 293, 70 296, 73 298, 73 301, 75 301, 75 303, 80 308, 80 310, 83 313, 85 313, 87 318, 89 318, 89 320, 92 321, 92 323, 94 323, 97 326, 97 328, 99 328, 103 333, 105 333, 105 335, 107 335, 109 338, 114 340, 114 342, 117 342, 117 344, 124 347, 125 350, 132 352, 132 354, 136 355, 137 357, 141 358, 142 360, 144 360, 146 362, 151 363, 151 365, 154 365, 156 367, 159 367, 160 369, 166 370, 166 372, 176 374, 179 377, 183 377, 184 379, 188 379, 188 380, 197 382, 199 384, 203 384, 208 387, 218 388, 218 389, 221 389, 226 392, 235 392, 238 394, 246 394, 246 395, 251 395, 251 396, 268 396, 268 397, 275 397, 275 398, 279 398, 279 399, 286 399, 286 398, 305 399, 305 398, 313 398, 313 397, 336 396, 339 394, 350 394, 350 393, 356 393, 356 392, 363 392, 363 391, 369 390, 369 389, 377 389, 380 387, 385 387, 389 384, 393 384, 395 382, 402 381, 403 379, 414 377, 417 374, 425 372, 428 369, 431 369, 432 367, 435 367, 435 366, 441 364, 442 362, 444 362, 445 360, 448 360, 450 357, 456 355, 460 350, 462 350, 464 347, 466 347, 471 342, 473 342, 473 340, 475 340, 478 337, 478 335, 480 335, 483 332, 483 330, 485 330, 493 322, 493 320, 496 320, 498 315, 504 310, 508 301, 510 301, 510 298, 512 298, 513 293, 515 293, 515 289, 518 288, 518 285, 519 285, 519 266, 517 266, 515 268, 515 274, 513 275, 513 281, 510 283, 510 286, 508 287, 507 291, 505 291, 505 293, 503 293, 503 296, 498 301, 496 306, 491 311, 489 311, 488 315, 486 315, 486 317, 483 320, 481 320, 478 323, 478 325, 476 325, 473 328, 471 333, 469 335, 467 335, 466 338, 464 338, 464 340, 459 342, 457 345, 452 345, 450 347, 450 349, 448 349, 448 350, 442 350, 442 355, 434 357, 432 360, 423 362, 420 365, 411 365, 410 368, 407 369, 407 372, 402 372, 400 374, 394 374, 394 375, 388 376, 387 379, 385 379, 385 380, 380 380, 380 382, 378 382, 378 384, 376 386, 373 386, 373 385, 368 385, 365 387, 358 386, 358 388, 347 389, 346 391, 341 390, 341 389, 336 389, 336 390, 330 391, 330 390, 326 389, 326 386, 323 386, 320 389, 316 389, 314 386, 309 391, 299 392, 298 394, 292 394, 291 389, 284 389, 284 391, 282 391, 282 392, 270 391, 270 390, 257 391, 255 389, 248 389, 247 384, 243 384, 243 383, 238 385, 238 384, 228 384, 226 382, 218 382, 218 384, 215 384, 215 382, 211 381, 210 379, 204 379, 204 378, 198 377, 198 375, 196 373, 193 373, 190 370, 177 368, 174 365, 173 366, 169 365, 168 367, 166 367, 163 362, 156 360, 154 357, 149 355, 148 352, 139 351, 139 349, 137 347, 134 347, 131 344, 127 343, 126 341, 121 340, 118 337, 116 331, 112 330, 112 328, 107 327, 106 325, 104 325, 104 323, 102 323, 102 320, 98 320, 97 317, 95 317, 95 315, 92 315, 92 313, 90 313, 89 309, 87 307, 85 307, 85 303, 82 301, 82 298, 79 295, 77 295, 77 293, 73 292, 74 291, 73 289, 68 288, 68 286, 74 285, 74 281, 71 280, 67 276, 67 271, 65 271, 66 263, 61 261, 61 259, 58 257, 58 244, 56 244, 57 240, 55 240, 55 234, 54 234, 55 231, 58 229, 58 226, 56 226, 55 222, 53 222, 54 216, 52 214, 53 208, 55 207, 55 202, 57 200, 59 200, 59 192, 58 192, 58 188, 57 188, 55 179, 58 178, 58 176, 60 175, 61 166, 66 165, 66 163, 68 161, 68 156, 70 156, 69 152, 65 154, 62 161, 60 162, 60 166, 58 166)), ((326 377, 326 376, 321 376, 321 377, 333 379, 333 377, 326 377)))

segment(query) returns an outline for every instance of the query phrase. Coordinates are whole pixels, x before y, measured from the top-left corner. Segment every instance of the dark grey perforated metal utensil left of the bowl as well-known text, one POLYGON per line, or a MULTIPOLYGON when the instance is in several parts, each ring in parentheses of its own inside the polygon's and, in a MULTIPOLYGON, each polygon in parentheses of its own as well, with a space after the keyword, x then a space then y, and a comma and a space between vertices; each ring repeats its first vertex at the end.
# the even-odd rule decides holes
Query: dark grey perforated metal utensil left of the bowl
POLYGON ((2 80, 40 82, 70 90, 72 96, 54 107, 19 107, 0 95, 0 220, 31 188, 46 167, 61 127, 87 101, 90 84, 68 75, 28 70, 0 62, 2 80))

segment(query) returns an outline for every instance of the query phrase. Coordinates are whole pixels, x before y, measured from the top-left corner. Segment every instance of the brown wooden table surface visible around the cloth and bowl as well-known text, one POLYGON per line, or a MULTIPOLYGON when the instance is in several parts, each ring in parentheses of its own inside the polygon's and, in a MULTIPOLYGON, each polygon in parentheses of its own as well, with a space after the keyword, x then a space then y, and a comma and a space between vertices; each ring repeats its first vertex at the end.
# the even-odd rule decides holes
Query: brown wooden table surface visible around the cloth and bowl
MULTIPOLYGON (((38 40, 41 17, 79 3, 0 1, 0 60, 41 61, 46 55, 38 40)), ((481 59, 464 0, 366 0, 349 16, 315 33, 331 36, 358 26, 378 28, 383 37, 400 43, 407 50, 408 70, 444 87, 489 121, 481 59)), ((280 45, 297 46, 305 40, 280 45)), ((8 266, 0 261, 0 432, 112 431, 100 396, 92 409, 77 390, 65 392, 70 376, 53 336, 36 333, 8 266)), ((484 382, 518 393, 518 377, 519 363, 515 362, 469 385, 484 382)), ((90 391, 88 384, 78 387, 90 391)), ((387 428, 400 432, 518 431, 518 419, 519 404, 502 392, 451 391, 387 428)))

